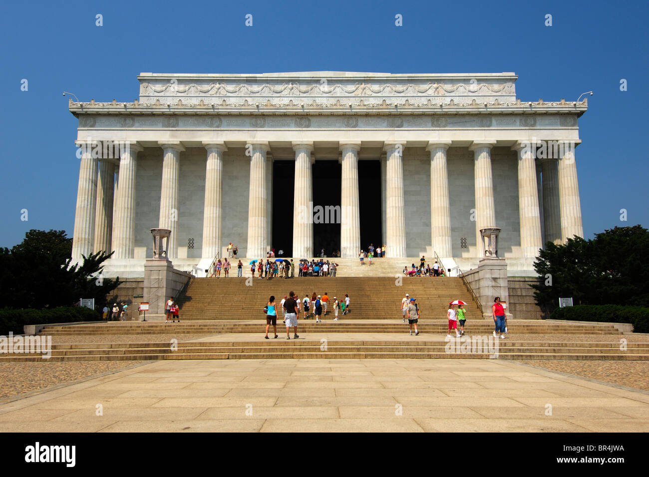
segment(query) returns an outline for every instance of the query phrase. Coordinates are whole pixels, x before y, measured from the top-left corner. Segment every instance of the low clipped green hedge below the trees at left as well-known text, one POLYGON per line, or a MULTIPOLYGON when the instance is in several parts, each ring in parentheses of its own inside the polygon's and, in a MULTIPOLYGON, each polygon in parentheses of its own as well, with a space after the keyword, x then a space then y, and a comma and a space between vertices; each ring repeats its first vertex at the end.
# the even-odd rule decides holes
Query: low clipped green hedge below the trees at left
POLYGON ((9 332, 22 334, 25 324, 75 323, 75 321, 98 321, 99 312, 83 306, 61 306, 51 310, 0 310, 0 335, 9 332))

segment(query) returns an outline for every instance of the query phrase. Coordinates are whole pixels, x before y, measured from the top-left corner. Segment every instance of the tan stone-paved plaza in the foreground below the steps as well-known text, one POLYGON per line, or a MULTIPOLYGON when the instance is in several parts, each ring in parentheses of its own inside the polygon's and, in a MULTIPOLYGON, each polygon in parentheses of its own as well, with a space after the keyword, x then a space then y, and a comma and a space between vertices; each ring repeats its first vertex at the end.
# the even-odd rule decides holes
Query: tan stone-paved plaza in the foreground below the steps
POLYGON ((2 432, 643 430, 646 391, 498 360, 156 361, 0 405, 2 432))

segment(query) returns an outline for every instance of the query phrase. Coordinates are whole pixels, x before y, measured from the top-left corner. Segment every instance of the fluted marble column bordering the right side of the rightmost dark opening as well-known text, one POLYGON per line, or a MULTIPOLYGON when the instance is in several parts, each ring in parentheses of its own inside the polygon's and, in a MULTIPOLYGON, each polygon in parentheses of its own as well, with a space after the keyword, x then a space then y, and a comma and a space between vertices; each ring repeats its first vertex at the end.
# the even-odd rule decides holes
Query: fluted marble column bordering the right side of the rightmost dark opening
POLYGON ((386 245, 387 256, 406 256, 406 203, 403 157, 405 142, 386 141, 386 245))

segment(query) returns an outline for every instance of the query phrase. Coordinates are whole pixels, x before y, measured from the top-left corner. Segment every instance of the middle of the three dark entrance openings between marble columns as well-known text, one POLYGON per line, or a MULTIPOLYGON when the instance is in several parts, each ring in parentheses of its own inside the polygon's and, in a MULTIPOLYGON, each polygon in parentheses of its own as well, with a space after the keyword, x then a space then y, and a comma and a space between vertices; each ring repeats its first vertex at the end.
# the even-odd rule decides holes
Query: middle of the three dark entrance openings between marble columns
MULTIPOLYGON (((327 256, 340 250, 340 183, 338 161, 315 161, 313 172, 313 254, 327 256), (321 212, 319 214, 319 212, 321 212)), ((302 258, 302 257, 297 257, 302 258)))

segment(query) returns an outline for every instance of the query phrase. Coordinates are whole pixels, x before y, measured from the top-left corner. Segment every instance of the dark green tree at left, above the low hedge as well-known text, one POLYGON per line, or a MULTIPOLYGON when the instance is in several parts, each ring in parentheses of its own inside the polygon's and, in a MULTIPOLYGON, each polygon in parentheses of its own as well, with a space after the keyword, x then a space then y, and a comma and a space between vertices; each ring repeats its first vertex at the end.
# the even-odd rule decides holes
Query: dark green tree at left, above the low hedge
POLYGON ((95 276, 112 254, 97 252, 71 265, 72 239, 64 230, 30 230, 11 250, 0 249, 0 306, 54 308, 71 306, 80 298, 94 298, 103 308, 105 297, 119 278, 95 276))

